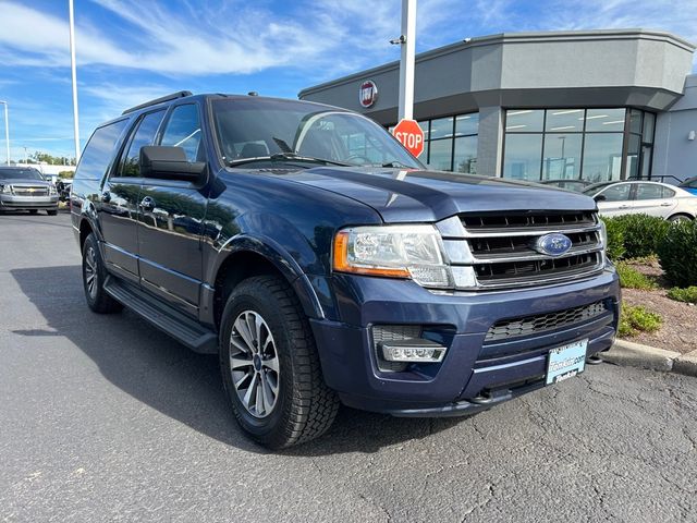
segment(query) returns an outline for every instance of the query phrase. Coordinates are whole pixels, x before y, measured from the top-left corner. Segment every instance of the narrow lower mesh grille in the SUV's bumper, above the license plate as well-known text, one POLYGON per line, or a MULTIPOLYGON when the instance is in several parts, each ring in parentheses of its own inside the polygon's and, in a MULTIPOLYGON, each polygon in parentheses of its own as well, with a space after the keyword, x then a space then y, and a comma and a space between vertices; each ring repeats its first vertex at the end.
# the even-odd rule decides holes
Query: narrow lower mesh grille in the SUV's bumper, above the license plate
POLYGON ((596 318, 608 311, 606 302, 567 308, 557 313, 525 316, 496 323, 487 331, 485 342, 508 340, 568 327, 596 318))

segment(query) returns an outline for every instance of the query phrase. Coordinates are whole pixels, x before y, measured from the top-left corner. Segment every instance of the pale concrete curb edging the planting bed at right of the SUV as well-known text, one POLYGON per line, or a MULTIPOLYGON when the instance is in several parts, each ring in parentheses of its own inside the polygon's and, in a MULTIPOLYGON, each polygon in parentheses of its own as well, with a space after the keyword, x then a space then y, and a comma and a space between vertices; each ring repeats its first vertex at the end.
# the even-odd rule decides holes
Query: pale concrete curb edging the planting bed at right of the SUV
POLYGON ((601 352, 599 355, 606 362, 615 365, 697 376, 697 351, 681 354, 632 341, 616 340, 608 352, 601 352))

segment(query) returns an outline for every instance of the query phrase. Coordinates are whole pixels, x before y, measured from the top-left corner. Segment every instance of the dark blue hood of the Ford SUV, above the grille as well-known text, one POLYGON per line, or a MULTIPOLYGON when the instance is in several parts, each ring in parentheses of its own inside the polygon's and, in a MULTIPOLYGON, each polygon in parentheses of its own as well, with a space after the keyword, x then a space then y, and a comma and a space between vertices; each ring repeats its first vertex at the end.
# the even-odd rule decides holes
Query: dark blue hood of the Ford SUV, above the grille
POLYGON ((596 202, 582 194, 475 174, 320 167, 285 175, 369 205, 388 223, 438 221, 461 212, 596 209, 596 202))

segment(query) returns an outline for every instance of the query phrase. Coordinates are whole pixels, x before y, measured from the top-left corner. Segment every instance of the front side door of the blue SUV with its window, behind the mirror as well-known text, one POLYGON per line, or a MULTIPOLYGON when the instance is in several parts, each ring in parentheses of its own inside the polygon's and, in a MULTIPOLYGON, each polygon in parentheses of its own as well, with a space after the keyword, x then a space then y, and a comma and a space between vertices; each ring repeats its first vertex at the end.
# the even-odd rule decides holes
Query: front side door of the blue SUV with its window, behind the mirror
MULTIPOLYGON (((182 147, 188 161, 206 161, 199 106, 174 106, 158 145, 182 147)), ((207 185, 144 179, 138 206, 143 289, 196 317, 203 279, 200 235, 207 185)))

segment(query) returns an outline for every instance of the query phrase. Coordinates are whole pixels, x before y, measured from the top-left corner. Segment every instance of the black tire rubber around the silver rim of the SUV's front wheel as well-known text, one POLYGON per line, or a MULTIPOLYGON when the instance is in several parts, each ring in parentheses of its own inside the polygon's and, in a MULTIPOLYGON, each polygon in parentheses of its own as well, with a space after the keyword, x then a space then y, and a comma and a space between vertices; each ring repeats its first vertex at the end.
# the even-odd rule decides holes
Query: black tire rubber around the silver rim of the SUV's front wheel
MULTIPOLYGON (((260 348, 261 335, 258 338, 257 348, 260 348)), ((267 342, 268 338, 267 335, 267 342)), ((259 354, 261 352, 259 350, 259 354)), ((264 354, 261 357, 265 357, 264 354)), ((245 368, 248 368, 250 376, 257 372, 259 376, 260 373, 273 375, 272 370, 257 366, 261 367, 255 363, 245 368)), ((252 439, 268 448, 281 449, 318 438, 334 421, 339 400, 325 385, 309 324, 297 296, 288 282, 279 277, 249 278, 233 290, 222 315, 220 368, 225 392, 240 426, 252 439), (235 323, 247 313, 256 314, 268 326, 265 328, 271 335, 273 360, 278 366, 278 393, 273 406, 264 417, 255 415, 245 406, 244 398, 239 396, 242 391, 233 382, 231 354, 245 355, 237 348, 231 350, 233 327, 236 339, 240 339, 235 323)), ((240 367, 236 373, 237 377, 244 374, 240 372, 240 367)), ((248 384, 248 389, 252 389, 254 378, 249 378, 248 384)), ((257 394, 258 389, 254 396, 257 394)))

